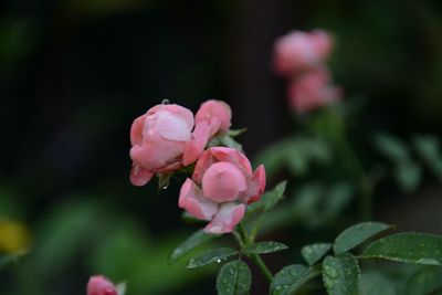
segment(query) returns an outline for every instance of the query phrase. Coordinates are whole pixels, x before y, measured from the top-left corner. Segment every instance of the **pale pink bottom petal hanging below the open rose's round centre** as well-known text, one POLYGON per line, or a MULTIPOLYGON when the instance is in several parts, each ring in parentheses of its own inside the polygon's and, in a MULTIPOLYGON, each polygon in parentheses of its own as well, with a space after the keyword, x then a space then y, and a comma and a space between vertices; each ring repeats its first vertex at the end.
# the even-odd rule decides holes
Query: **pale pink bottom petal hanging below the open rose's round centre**
POLYGON ((223 203, 213 220, 204 228, 208 233, 228 233, 241 222, 245 213, 244 204, 223 203))

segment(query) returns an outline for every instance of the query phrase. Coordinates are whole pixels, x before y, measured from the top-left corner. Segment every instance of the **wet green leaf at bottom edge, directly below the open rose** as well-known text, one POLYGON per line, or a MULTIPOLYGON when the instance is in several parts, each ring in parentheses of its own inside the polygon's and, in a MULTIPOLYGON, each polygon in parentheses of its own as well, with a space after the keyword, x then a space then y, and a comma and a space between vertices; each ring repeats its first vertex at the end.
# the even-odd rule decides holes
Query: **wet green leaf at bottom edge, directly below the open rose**
POLYGON ((242 261, 232 261, 224 264, 217 277, 219 295, 245 295, 252 285, 252 274, 249 266, 242 261))

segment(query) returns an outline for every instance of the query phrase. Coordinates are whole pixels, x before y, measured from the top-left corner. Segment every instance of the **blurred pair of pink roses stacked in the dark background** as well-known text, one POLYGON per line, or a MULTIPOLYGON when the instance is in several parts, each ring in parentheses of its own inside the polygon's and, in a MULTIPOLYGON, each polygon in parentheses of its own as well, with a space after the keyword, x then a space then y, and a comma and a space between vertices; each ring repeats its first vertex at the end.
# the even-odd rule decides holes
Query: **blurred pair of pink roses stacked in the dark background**
POLYGON ((307 113, 341 98, 325 65, 333 40, 323 30, 293 31, 276 40, 274 70, 290 80, 288 99, 297 113, 307 113))

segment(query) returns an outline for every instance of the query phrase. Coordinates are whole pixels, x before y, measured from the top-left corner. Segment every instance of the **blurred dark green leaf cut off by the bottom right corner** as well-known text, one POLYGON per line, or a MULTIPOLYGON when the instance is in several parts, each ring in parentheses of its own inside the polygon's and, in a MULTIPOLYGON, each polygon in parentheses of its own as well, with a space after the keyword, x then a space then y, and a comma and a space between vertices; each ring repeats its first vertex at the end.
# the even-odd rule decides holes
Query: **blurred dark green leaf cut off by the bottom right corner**
POLYGON ((407 282, 407 295, 427 295, 435 291, 442 291, 441 267, 428 266, 414 273, 407 282))

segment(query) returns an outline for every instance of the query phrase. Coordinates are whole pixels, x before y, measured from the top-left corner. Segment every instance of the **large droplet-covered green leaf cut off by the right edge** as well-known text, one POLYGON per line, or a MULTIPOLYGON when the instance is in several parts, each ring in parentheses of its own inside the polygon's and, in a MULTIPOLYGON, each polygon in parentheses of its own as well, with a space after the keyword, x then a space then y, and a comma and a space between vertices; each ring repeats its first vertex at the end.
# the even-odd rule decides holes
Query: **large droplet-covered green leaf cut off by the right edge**
POLYGON ((373 241, 361 257, 442 266, 442 236, 428 233, 397 233, 373 241))

